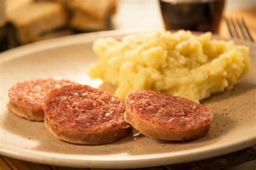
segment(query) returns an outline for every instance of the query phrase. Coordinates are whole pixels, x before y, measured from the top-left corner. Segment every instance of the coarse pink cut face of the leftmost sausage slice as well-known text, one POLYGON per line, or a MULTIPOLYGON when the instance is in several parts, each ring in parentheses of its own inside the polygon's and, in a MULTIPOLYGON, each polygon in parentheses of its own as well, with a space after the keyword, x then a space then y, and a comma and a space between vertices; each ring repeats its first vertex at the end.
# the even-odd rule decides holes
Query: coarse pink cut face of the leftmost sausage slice
POLYGON ((36 79, 15 84, 9 89, 12 102, 28 108, 42 108, 46 94, 53 88, 74 83, 62 79, 36 79))

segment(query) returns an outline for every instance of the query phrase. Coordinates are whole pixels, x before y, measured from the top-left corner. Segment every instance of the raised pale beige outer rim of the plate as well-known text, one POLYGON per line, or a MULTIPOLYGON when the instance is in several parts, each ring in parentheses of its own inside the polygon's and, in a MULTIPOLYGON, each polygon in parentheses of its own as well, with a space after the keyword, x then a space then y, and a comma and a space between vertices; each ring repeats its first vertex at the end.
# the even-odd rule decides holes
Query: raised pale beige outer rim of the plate
MULTIPOLYGON (((18 58, 21 55, 35 51, 44 51, 44 49, 56 48, 59 46, 70 46, 81 42, 91 42, 98 37, 118 37, 128 34, 138 33, 138 31, 103 31, 95 33, 85 33, 51 40, 36 42, 0 53, 0 65, 10 59, 18 58)), ((218 38, 218 36, 213 36, 218 38)), ((237 41, 237 40, 235 40, 237 41)), ((241 41, 240 41, 241 42, 241 41)), ((251 42, 242 42, 242 44, 256 47, 251 42)), ((1 80, 2 81, 2 80, 1 80)), ((1 83, 1 82, 0 82, 1 83)), ((0 140, 1 141, 1 140, 0 140)), ((39 164, 68 166, 68 167, 93 167, 93 168, 139 168, 152 167, 168 164, 176 164, 185 161, 206 159, 231 153, 243 148, 252 146, 256 143, 256 135, 248 138, 240 138, 236 141, 223 143, 222 145, 208 148, 207 145, 200 148, 193 148, 186 151, 175 151, 169 153, 145 154, 145 155, 90 155, 83 157, 81 155, 45 153, 41 151, 28 151, 23 148, 10 146, 8 144, 0 145, 0 154, 7 157, 21 159, 25 161, 36 162, 39 164), (53 159, 54 158, 54 159, 53 159), (57 158, 57 159, 56 159, 57 158)))

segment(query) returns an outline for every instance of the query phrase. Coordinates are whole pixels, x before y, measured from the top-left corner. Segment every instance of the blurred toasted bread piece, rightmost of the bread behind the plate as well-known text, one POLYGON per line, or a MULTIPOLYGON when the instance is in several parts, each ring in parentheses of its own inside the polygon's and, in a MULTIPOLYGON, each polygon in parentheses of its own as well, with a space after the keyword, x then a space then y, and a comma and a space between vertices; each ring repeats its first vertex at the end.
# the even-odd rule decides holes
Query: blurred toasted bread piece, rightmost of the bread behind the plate
POLYGON ((65 4, 72 11, 70 26, 73 29, 104 31, 112 28, 111 16, 117 10, 117 0, 65 0, 65 4))

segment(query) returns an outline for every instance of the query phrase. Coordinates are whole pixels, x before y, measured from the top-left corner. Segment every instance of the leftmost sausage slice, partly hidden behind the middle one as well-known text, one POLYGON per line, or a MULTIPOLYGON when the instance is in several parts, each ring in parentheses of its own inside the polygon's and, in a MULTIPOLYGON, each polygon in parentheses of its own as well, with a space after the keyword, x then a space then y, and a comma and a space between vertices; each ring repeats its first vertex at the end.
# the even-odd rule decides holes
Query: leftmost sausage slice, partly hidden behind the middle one
POLYGON ((69 80, 37 79, 15 84, 9 89, 9 109, 31 121, 44 121, 43 99, 55 87, 72 83, 69 80))

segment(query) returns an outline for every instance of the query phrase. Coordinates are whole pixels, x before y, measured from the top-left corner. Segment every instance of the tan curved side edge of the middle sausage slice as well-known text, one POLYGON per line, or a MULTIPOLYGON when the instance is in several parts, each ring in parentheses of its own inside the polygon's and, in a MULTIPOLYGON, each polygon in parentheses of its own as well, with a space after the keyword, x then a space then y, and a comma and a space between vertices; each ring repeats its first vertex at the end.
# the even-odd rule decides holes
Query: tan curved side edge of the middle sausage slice
POLYGON ((78 131, 71 130, 50 121, 46 116, 44 119, 46 128, 53 136, 75 144, 97 145, 116 141, 119 138, 127 136, 132 128, 100 130, 100 131, 78 131))

